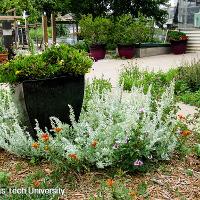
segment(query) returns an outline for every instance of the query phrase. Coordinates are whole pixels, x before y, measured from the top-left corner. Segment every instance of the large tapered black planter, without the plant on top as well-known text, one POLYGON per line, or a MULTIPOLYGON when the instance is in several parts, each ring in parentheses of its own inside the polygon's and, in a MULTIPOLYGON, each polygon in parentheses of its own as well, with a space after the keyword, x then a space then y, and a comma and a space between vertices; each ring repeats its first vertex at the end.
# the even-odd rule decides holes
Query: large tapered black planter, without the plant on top
POLYGON ((70 124, 69 106, 78 120, 84 97, 84 75, 24 81, 15 87, 15 99, 22 113, 22 123, 36 138, 35 119, 40 128, 51 129, 49 117, 57 117, 70 124))

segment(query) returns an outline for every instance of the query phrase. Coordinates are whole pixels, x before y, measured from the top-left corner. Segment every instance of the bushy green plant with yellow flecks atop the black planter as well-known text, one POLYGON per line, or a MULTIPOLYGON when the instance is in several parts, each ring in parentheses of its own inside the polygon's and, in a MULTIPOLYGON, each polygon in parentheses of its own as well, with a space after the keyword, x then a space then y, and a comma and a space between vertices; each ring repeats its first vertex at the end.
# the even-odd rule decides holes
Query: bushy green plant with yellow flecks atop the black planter
POLYGON ((54 45, 41 55, 20 56, 0 66, 0 82, 22 82, 62 76, 67 73, 85 74, 93 62, 83 51, 68 45, 54 45))

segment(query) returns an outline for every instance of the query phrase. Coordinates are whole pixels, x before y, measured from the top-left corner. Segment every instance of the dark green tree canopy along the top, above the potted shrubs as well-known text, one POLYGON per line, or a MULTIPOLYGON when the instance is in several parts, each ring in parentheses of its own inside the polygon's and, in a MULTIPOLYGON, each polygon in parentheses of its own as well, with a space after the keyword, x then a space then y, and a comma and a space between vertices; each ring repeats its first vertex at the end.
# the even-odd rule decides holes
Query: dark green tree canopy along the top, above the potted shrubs
POLYGON ((77 18, 83 14, 92 14, 93 17, 111 14, 117 17, 127 13, 137 17, 141 13, 164 23, 167 11, 161 6, 165 6, 167 2, 168 0, 70 0, 69 9, 77 18))

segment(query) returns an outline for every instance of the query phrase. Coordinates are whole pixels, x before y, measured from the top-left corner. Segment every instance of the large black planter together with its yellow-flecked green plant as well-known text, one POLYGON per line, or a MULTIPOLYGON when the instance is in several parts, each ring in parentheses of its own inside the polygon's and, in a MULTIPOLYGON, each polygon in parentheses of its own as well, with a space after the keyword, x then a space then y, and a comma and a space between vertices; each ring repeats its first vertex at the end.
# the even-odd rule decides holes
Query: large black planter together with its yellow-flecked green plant
POLYGON ((68 45, 53 45, 40 55, 18 57, 0 67, 0 82, 14 85, 21 120, 36 138, 35 119, 45 131, 49 117, 70 124, 69 107, 76 120, 84 96, 84 74, 93 62, 87 53, 68 45))

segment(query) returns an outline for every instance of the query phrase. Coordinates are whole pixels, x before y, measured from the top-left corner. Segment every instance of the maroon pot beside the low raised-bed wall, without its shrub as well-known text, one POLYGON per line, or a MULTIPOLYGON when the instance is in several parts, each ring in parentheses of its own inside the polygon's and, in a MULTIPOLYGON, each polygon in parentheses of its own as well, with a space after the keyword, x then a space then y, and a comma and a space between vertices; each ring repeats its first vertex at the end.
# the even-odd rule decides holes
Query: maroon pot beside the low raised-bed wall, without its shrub
POLYGON ((121 58, 131 59, 135 55, 134 45, 117 45, 118 53, 121 58))

